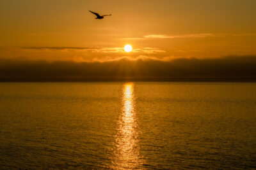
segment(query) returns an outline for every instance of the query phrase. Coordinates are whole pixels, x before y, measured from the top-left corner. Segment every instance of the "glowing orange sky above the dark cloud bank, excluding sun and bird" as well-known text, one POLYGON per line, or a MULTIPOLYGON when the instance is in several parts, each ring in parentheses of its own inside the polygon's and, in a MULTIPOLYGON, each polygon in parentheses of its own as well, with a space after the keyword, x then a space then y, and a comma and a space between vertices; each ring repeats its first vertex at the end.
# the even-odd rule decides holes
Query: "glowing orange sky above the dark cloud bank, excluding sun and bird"
POLYGON ((106 62, 256 54, 255 0, 2 0, 0 59, 106 62), (95 15, 112 14, 103 20, 95 15), (124 52, 130 44, 132 52, 124 52))

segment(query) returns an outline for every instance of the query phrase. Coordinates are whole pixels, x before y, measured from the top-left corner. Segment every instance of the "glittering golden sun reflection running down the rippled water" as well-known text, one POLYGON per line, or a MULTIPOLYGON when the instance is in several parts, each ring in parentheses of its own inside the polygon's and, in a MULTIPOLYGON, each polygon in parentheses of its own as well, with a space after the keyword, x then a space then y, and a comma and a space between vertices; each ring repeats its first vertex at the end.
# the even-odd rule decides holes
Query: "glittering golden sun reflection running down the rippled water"
POLYGON ((134 83, 125 83, 122 96, 122 114, 116 134, 114 169, 137 169, 141 159, 138 144, 138 124, 134 108, 134 83))

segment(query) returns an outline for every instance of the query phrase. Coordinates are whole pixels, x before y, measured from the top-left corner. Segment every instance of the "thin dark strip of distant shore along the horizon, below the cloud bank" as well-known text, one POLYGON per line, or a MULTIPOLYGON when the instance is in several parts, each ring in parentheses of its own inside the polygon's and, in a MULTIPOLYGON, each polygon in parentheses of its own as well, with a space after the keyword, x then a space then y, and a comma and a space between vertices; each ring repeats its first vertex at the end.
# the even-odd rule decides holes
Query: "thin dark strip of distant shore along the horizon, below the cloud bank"
POLYGON ((0 79, 0 82, 108 82, 108 81, 256 82, 256 78, 2 78, 0 79))

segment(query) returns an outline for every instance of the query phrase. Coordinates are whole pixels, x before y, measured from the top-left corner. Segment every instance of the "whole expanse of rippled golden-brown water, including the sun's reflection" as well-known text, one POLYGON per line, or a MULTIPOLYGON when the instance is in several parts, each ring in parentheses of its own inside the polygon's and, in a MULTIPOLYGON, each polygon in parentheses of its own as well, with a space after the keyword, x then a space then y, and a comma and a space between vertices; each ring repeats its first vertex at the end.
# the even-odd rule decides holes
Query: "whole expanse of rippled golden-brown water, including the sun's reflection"
POLYGON ((0 83, 1 169, 256 168, 256 83, 0 83))

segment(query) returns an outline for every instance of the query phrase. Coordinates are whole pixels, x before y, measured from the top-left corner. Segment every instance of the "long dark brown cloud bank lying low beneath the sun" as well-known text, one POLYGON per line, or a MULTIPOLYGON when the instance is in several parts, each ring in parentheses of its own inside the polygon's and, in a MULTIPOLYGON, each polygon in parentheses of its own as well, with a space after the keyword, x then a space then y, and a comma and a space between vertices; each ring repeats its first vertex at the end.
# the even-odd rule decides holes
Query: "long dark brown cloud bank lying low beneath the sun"
POLYGON ((106 62, 0 59, 0 80, 19 78, 256 78, 256 55, 106 62))

